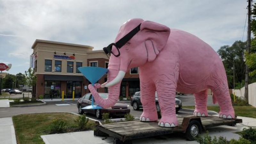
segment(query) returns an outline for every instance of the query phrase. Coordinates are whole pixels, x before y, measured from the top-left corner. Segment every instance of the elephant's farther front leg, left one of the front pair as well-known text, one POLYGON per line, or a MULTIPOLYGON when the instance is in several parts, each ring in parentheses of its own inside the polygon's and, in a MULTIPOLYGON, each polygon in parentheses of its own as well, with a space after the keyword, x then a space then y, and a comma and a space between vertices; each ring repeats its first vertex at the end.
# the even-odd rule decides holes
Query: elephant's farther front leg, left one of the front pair
POLYGON ((143 107, 143 113, 140 121, 157 121, 155 93, 156 87, 149 82, 140 81, 140 100, 143 107))

